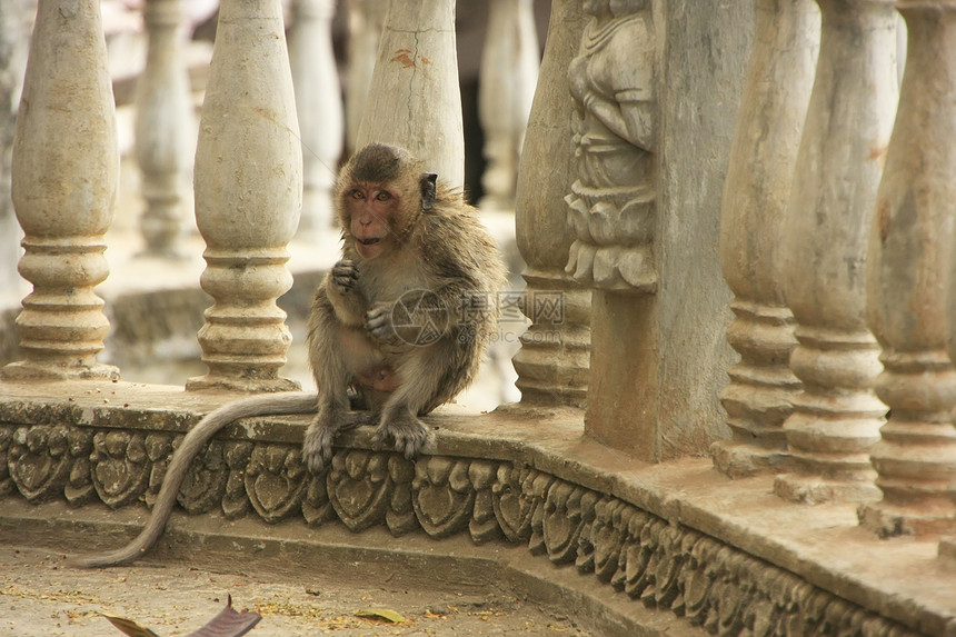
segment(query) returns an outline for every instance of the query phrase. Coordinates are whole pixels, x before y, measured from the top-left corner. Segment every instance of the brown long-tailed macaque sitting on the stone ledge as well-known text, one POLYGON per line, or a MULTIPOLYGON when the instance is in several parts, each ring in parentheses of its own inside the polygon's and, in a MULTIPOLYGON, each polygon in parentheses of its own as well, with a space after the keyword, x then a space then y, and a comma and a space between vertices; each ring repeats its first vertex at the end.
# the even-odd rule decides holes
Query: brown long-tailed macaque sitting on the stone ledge
POLYGON ((496 328, 505 267, 460 190, 408 151, 372 143, 336 185, 342 259, 316 291, 309 362, 318 396, 238 400, 207 415, 170 461, 149 521, 133 541, 73 566, 132 561, 159 539, 206 442, 237 418, 316 411, 302 456, 321 474, 339 431, 378 422, 374 441, 412 458, 428 440, 419 420, 475 377, 496 328), (355 408, 355 409, 353 409, 355 408))

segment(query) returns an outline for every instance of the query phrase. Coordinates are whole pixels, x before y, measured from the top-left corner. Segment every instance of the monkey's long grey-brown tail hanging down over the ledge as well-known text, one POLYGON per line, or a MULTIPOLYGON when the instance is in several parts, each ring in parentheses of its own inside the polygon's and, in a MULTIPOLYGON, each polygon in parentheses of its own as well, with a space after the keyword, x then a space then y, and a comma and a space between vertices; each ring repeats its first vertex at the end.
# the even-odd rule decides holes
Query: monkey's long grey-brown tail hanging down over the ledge
POLYGON ((239 418, 308 414, 316 410, 317 404, 317 395, 297 391, 243 398, 210 411, 196 424, 196 427, 189 430, 173 454, 156 498, 156 505, 152 507, 152 515, 139 536, 122 548, 73 557, 67 561, 67 565, 76 568, 98 568, 117 566, 139 558, 156 544, 156 540, 166 530, 166 522, 176 505, 176 495, 179 492, 179 487, 182 485, 189 465, 212 436, 239 418))

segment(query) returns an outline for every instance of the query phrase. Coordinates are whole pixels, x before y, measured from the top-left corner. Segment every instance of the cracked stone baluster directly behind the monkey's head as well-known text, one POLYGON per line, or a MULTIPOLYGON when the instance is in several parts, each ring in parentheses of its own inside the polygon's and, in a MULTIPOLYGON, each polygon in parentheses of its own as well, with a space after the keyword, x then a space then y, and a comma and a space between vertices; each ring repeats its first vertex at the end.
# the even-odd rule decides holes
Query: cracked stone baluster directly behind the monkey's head
POLYGON ((389 3, 358 146, 395 143, 465 183, 455 0, 389 3))

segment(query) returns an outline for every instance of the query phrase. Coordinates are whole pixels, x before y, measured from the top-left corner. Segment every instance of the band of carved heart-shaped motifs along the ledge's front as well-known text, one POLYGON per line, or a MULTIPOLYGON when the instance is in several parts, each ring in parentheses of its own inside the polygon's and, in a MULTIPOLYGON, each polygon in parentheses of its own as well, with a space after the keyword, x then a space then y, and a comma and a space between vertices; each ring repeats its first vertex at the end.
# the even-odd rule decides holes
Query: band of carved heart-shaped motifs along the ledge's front
MULTIPOLYGON (((62 489, 71 504, 84 501, 86 492, 120 507, 153 492, 173 447, 168 434, 0 427, 0 459, 7 460, 0 470, 29 501, 62 489)), ((329 474, 316 478, 297 446, 216 441, 190 479, 215 471, 218 486, 193 486, 180 502, 208 511, 221 498, 228 516, 252 508, 268 522, 301 510, 309 525, 338 518, 353 531, 386 525, 396 536, 420 527, 435 538, 467 531, 476 544, 496 537, 528 543, 534 555, 574 563, 647 607, 669 609, 714 635, 915 635, 701 533, 521 464, 449 457, 411 462, 342 449, 329 474)), ((3 479, 0 472, 0 485, 3 479)))

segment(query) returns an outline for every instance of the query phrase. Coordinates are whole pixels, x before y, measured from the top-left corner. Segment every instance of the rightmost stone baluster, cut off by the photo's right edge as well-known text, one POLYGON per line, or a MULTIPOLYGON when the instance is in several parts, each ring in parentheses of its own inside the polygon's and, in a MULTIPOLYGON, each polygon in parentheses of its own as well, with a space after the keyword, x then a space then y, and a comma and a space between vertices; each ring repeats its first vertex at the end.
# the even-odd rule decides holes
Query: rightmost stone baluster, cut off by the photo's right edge
POLYGON ((866 263, 866 313, 883 346, 890 408, 870 454, 883 499, 860 509, 880 536, 956 531, 956 2, 899 1, 908 42, 866 263), (956 354, 952 347, 950 352, 956 354))

